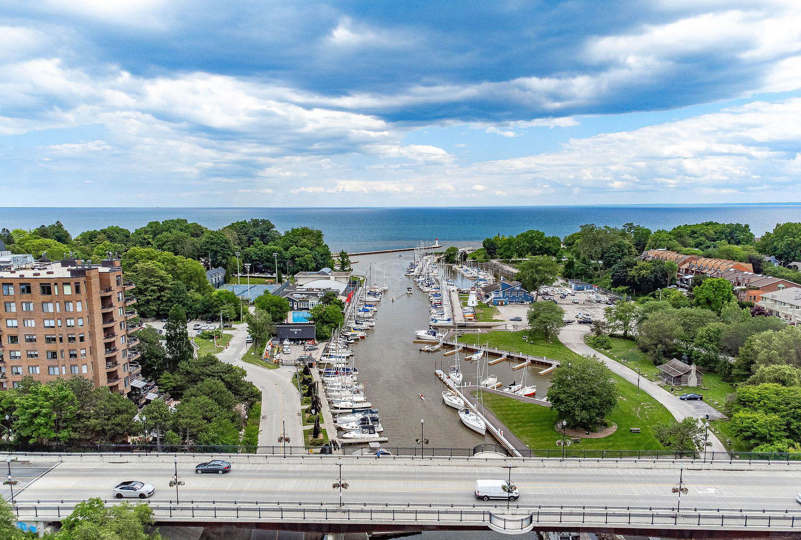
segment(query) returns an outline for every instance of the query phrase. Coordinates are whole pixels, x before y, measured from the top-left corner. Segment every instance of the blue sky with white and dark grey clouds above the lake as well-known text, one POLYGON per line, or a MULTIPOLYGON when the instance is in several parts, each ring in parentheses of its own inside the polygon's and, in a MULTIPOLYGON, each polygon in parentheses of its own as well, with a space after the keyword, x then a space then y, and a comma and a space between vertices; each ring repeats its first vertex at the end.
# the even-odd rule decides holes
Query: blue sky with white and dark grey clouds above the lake
POLYGON ((801 201, 798 0, 5 0, 0 207, 801 201))

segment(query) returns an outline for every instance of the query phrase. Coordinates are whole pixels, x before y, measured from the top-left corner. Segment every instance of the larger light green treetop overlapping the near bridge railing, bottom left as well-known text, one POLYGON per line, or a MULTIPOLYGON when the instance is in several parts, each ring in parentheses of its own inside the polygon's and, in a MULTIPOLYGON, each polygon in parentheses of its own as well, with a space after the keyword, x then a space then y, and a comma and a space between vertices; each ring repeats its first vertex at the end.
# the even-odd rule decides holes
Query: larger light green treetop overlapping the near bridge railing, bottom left
POLYGON ((161 540, 158 531, 147 533, 153 525, 153 510, 147 504, 122 502, 104 506, 99 498, 75 505, 62 520, 56 540, 161 540))

